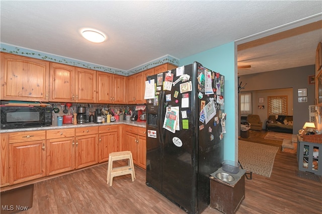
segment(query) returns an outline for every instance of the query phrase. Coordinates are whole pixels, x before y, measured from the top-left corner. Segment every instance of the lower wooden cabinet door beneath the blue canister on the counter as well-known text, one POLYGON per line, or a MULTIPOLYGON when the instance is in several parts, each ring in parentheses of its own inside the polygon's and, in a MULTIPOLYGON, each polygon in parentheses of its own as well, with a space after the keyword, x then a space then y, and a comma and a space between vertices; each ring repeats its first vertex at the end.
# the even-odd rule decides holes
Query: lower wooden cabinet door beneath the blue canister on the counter
POLYGON ((46 175, 75 169, 74 141, 73 137, 47 140, 46 175))

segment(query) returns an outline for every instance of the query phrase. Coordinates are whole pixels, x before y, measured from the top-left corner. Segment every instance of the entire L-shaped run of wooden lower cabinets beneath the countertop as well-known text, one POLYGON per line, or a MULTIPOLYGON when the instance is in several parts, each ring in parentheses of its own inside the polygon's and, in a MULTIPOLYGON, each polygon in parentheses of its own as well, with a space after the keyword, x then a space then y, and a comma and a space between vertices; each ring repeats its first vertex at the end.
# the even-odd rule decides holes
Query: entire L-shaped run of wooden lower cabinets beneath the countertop
POLYGON ((111 152, 129 150, 146 168, 146 129, 130 125, 62 128, 2 133, 1 186, 108 161, 111 152))

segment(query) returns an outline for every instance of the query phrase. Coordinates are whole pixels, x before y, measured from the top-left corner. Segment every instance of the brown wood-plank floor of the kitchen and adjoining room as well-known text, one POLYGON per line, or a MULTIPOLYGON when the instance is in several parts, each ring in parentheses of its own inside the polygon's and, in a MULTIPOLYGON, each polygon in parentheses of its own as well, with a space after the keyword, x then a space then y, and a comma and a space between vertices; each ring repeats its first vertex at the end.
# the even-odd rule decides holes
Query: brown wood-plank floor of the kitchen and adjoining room
MULTIPOLYGON (((145 185, 141 168, 135 167, 134 182, 130 175, 119 176, 111 187, 106 184, 106 170, 104 163, 35 183, 33 207, 24 212, 185 213, 145 185)), ((322 177, 320 181, 297 177, 296 170, 296 154, 278 151, 270 178, 253 174, 252 180, 246 179, 245 199, 236 213, 322 213, 322 177)), ((202 213, 221 212, 208 207, 202 213)))

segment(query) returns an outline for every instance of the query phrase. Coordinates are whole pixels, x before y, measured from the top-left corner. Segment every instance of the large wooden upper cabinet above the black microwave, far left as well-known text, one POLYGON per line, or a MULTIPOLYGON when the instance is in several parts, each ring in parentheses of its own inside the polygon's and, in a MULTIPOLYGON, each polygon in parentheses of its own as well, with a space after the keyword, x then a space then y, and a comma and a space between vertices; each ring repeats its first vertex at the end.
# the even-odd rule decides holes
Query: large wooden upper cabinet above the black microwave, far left
POLYGON ((1 53, 1 99, 48 101, 49 62, 1 53))

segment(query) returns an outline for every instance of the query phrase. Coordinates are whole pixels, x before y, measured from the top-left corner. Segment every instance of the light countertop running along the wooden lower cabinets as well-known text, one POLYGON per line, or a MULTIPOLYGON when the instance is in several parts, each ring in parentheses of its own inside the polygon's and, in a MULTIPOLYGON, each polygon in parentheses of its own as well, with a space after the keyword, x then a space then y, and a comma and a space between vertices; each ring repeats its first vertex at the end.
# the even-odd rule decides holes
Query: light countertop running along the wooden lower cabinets
POLYGON ((115 122, 104 123, 104 124, 96 124, 96 123, 85 123, 85 124, 77 124, 77 125, 63 124, 62 126, 44 126, 44 127, 19 128, 19 129, 0 129, 0 133, 53 130, 53 129, 69 129, 69 128, 92 127, 92 126, 109 126, 109 125, 117 125, 117 124, 125 124, 125 125, 130 125, 130 126, 146 128, 146 123, 142 123, 142 122, 115 121, 115 122))

